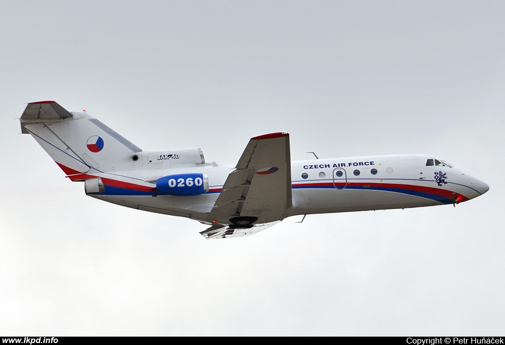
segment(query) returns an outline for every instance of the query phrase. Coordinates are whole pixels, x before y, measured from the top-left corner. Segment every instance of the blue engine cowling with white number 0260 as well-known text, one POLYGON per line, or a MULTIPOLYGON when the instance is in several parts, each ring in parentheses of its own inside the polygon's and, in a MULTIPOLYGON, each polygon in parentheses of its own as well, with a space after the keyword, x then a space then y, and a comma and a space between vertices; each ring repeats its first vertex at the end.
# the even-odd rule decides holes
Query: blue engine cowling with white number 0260
POLYGON ((209 191, 209 178, 205 174, 176 174, 156 180, 159 193, 168 195, 199 195, 209 191))

